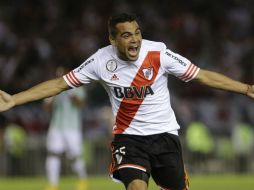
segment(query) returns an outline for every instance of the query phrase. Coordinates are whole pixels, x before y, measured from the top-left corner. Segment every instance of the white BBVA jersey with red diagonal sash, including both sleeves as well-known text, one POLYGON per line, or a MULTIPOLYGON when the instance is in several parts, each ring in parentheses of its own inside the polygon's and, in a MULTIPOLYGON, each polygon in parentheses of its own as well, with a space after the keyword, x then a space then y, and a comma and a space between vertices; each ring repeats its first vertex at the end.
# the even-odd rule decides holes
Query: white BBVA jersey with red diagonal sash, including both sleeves
POLYGON ((114 134, 175 134, 180 127, 171 108, 167 76, 172 74, 188 82, 198 71, 165 44, 142 40, 138 60, 119 59, 110 45, 99 49, 64 79, 73 88, 93 80, 102 83, 116 117, 114 134))

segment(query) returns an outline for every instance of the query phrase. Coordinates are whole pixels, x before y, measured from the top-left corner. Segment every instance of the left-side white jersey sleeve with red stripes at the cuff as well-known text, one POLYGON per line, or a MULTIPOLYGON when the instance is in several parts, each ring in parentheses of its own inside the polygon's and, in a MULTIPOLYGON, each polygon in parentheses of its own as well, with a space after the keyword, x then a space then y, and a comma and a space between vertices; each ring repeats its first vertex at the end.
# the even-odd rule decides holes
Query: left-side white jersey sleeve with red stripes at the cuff
POLYGON ((83 62, 79 67, 64 75, 63 78, 72 88, 79 87, 83 84, 88 84, 93 80, 99 80, 98 64, 99 61, 97 58, 97 53, 95 53, 85 62, 83 62))

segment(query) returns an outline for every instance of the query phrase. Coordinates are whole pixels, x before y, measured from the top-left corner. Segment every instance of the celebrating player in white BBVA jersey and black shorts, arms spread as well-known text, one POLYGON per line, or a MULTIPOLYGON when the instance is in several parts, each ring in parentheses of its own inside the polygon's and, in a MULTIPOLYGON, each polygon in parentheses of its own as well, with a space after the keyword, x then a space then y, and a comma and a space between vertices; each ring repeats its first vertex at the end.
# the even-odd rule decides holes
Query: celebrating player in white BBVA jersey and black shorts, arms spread
POLYGON ((135 15, 117 14, 108 22, 111 45, 99 49, 63 77, 26 91, 1 92, 0 110, 54 96, 69 88, 100 81, 113 113, 110 175, 127 190, 147 190, 152 176, 161 189, 188 189, 178 137, 179 125, 170 105, 168 75, 254 98, 254 85, 200 69, 161 42, 142 39, 135 15))

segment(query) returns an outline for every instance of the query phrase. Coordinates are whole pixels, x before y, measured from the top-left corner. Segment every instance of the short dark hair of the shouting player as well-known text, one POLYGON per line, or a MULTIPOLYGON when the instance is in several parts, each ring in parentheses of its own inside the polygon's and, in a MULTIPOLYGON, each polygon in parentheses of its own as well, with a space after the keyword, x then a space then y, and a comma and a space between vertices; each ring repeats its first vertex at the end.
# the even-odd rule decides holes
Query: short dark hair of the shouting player
POLYGON ((120 13, 114 14, 108 19, 108 33, 115 37, 117 34, 116 25, 123 22, 137 21, 138 17, 136 14, 120 13))

